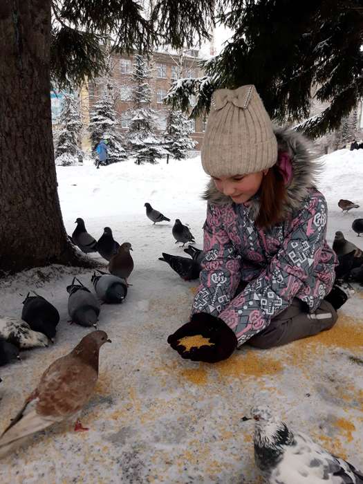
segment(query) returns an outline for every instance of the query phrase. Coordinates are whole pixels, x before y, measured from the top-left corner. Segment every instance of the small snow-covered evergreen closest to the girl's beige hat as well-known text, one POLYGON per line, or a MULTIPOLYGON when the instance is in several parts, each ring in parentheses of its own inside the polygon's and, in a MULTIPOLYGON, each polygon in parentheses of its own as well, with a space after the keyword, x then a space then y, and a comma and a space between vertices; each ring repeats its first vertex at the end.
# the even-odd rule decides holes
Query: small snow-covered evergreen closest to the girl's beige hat
POLYGON ((164 142, 165 148, 176 160, 187 158, 188 151, 196 145, 196 142, 190 138, 189 133, 191 133, 191 130, 187 117, 181 111, 169 109, 164 142))

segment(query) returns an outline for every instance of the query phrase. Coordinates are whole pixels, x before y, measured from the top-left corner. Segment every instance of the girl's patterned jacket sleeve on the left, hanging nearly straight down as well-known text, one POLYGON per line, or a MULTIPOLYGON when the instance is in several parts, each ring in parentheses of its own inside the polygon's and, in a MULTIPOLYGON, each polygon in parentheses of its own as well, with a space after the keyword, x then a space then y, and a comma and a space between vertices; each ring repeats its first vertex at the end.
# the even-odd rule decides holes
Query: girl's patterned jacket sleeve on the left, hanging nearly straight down
POLYGON ((208 204, 204 224, 204 251, 201 284, 192 313, 218 316, 230 304, 241 279, 241 258, 223 228, 223 207, 208 204))

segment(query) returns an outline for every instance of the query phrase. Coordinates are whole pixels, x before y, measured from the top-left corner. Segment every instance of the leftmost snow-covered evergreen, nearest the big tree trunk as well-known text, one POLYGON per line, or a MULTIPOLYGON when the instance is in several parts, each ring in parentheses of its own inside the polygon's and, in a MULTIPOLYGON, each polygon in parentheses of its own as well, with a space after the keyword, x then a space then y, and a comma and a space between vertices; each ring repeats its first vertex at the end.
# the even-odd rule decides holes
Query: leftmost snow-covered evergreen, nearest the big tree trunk
POLYGON ((80 103, 75 95, 64 94, 59 124, 62 126, 62 129, 57 133, 55 164, 68 167, 82 162, 83 153, 78 146, 82 120, 80 103))

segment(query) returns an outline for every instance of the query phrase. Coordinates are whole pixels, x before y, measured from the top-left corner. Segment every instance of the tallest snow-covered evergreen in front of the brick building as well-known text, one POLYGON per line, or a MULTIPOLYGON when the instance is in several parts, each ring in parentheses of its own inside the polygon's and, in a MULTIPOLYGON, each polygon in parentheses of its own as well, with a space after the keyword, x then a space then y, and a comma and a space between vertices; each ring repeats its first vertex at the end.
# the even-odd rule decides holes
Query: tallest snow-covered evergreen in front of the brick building
POLYGON ((136 164, 143 162, 155 163, 158 158, 165 156, 165 149, 161 146, 161 140, 155 134, 156 115, 151 109, 151 89, 147 80, 149 70, 142 55, 133 57, 133 75, 131 81, 132 109, 129 109, 129 145, 131 152, 136 156, 136 164))

